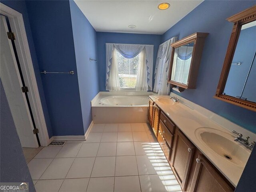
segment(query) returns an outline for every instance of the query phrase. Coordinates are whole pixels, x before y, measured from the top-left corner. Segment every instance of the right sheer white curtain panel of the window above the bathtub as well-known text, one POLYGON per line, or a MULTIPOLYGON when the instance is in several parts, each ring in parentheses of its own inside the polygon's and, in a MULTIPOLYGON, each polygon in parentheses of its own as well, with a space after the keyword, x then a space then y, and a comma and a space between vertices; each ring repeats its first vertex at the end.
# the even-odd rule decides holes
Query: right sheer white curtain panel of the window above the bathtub
POLYGON ((135 85, 136 91, 147 91, 147 66, 146 66, 146 49, 144 48, 140 52, 139 69, 137 75, 137 81, 135 85))

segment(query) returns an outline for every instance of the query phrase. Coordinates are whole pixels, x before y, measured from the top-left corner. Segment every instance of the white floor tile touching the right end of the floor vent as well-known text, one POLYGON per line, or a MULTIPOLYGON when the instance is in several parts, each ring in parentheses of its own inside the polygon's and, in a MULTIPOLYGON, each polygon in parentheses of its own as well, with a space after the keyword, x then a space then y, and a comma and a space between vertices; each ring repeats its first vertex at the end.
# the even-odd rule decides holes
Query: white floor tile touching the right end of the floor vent
POLYGON ((72 158, 76 157, 82 143, 68 143, 65 144, 60 152, 58 152, 56 158, 72 158))

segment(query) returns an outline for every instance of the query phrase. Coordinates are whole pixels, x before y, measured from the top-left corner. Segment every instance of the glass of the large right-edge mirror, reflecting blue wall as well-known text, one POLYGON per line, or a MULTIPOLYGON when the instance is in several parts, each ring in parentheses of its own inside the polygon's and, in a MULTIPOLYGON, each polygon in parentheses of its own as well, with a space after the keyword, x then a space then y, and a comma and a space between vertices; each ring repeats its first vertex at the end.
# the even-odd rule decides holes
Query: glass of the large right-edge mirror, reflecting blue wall
POLYGON ((241 28, 224 94, 256 102, 255 55, 256 21, 244 24, 241 28))

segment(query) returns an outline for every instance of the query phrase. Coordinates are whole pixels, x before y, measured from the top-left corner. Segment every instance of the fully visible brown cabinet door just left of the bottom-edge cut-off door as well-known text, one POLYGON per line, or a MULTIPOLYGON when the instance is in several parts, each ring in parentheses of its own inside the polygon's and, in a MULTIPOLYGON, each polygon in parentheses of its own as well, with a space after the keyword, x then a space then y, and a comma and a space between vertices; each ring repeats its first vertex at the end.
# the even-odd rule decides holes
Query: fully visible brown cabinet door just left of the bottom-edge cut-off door
POLYGON ((174 148, 171 158, 171 166, 181 188, 184 190, 188 171, 192 162, 194 146, 180 130, 175 132, 174 148))

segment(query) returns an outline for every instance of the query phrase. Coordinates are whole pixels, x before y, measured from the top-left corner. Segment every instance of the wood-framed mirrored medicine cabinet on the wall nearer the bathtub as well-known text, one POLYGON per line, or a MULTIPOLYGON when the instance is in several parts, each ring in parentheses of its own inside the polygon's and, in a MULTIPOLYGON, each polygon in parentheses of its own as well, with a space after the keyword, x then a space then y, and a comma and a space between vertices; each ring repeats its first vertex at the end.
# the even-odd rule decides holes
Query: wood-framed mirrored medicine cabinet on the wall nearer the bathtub
POLYGON ((195 89, 200 66, 204 40, 208 33, 196 32, 171 44, 170 69, 168 83, 185 89, 195 89))

